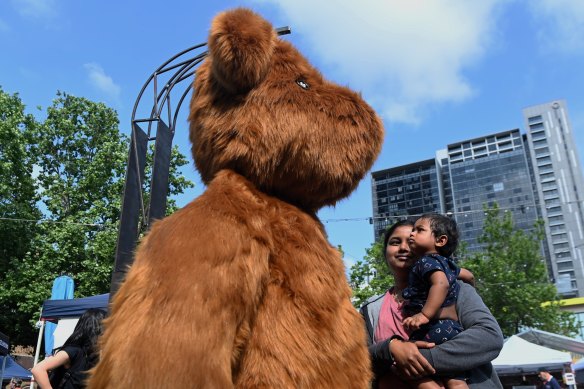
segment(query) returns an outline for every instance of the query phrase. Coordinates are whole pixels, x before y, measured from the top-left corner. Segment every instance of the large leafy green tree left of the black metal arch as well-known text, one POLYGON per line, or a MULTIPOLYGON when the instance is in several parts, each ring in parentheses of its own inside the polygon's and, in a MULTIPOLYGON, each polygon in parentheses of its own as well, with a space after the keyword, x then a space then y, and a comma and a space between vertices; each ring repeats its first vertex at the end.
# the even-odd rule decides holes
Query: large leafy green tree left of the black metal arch
MULTIPOLYGON (((20 106, 10 99, 8 104, 4 95, 0 111, 5 106, 23 111, 20 101, 20 106)), ((10 147, 24 150, 20 154, 28 165, 19 181, 31 182, 35 196, 29 203, 36 212, 36 219, 34 215, 28 219, 42 218, 42 222, 26 224, 33 230, 26 250, 13 260, 1 258, 8 266, 0 275, 0 308, 9 309, 9 320, 18 324, 11 334, 13 342, 31 344, 36 336, 31 323, 38 319, 43 300, 50 297, 55 277, 71 276, 76 297, 109 291, 129 142, 119 131, 114 110, 66 93, 57 94, 43 122, 13 116, 24 119, 14 119, 8 130, 0 126, 0 131, 22 134, 9 139, 10 147), (32 166, 38 171, 36 178, 32 166)), ((185 163, 174 148, 169 194, 192 186, 178 174, 185 163)), ((20 191, 22 196, 28 193, 20 191)), ((0 204, 8 198, 1 194, 0 204)), ((176 208, 172 201, 170 205, 176 208)))

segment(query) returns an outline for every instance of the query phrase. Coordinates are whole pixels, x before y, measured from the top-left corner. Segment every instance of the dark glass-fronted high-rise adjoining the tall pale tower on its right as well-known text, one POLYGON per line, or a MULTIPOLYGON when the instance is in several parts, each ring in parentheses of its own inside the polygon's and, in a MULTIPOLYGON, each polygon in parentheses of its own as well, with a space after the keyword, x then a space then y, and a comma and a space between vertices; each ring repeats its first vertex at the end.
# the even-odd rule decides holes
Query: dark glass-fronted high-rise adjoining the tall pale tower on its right
POLYGON ((484 206, 497 203, 511 212, 518 228, 537 220, 525 145, 519 130, 471 139, 448 146, 448 168, 454 213, 461 238, 470 251, 480 249, 484 206))

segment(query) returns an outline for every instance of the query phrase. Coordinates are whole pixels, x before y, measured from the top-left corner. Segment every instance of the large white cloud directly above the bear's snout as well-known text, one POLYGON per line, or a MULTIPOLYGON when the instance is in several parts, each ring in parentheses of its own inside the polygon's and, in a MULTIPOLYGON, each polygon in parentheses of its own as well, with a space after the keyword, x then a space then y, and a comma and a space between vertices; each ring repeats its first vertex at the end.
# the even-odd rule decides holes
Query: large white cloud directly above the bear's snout
MULTIPOLYGON (((265 0, 327 65, 391 121, 474 91, 464 70, 487 50, 501 0, 265 0)), ((327 73, 330 73, 327 71, 327 73)))

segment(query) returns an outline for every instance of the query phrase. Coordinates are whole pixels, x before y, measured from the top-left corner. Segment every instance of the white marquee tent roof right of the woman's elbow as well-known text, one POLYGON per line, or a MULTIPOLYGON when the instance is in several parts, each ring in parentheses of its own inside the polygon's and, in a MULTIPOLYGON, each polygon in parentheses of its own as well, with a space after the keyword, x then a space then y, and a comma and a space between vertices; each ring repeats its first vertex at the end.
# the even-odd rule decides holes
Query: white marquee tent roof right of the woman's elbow
POLYGON ((535 374, 540 368, 562 371, 572 362, 570 353, 530 343, 517 335, 509 337, 493 366, 499 375, 535 374))

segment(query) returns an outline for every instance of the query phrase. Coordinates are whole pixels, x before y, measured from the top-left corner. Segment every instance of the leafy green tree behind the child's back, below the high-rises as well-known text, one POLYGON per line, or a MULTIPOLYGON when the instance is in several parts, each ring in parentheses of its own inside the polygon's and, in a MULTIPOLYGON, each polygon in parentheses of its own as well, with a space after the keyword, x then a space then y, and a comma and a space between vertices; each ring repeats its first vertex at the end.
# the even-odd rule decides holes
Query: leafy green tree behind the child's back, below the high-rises
POLYGON ((485 247, 461 265, 474 273, 477 291, 503 334, 514 335, 529 327, 575 335, 575 317, 560 310, 556 287, 548 279, 541 256, 542 222, 526 232, 516 229, 511 213, 501 214, 497 205, 485 208, 485 213, 479 239, 485 247))

